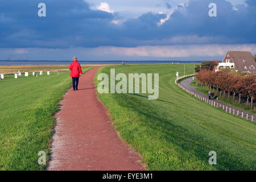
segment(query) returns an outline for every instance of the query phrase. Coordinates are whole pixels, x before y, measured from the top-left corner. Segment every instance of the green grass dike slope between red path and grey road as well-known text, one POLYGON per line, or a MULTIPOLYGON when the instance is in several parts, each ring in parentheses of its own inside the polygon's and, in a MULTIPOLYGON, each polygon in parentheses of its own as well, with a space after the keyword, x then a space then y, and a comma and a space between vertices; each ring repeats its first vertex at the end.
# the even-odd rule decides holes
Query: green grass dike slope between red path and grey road
MULTIPOLYGON (((186 64, 186 74, 193 64, 186 64)), ((159 98, 99 94, 121 139, 141 154, 148 170, 255 170, 256 125, 183 92, 175 83, 183 64, 114 65, 117 73, 159 73, 159 98), (208 163, 217 152, 217 165, 208 163)), ((95 77, 96 85, 100 81, 95 77)), ((118 81, 116 81, 117 83, 118 81)))

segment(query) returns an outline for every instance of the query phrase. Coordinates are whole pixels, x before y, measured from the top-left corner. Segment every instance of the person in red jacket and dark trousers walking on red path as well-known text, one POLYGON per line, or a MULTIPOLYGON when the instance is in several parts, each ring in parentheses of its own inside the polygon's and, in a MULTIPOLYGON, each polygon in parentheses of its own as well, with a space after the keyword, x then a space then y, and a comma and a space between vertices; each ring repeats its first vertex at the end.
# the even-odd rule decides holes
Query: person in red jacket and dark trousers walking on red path
POLYGON ((82 69, 80 63, 77 62, 76 56, 73 57, 73 63, 70 64, 69 70, 71 71, 70 76, 72 77, 73 90, 78 90, 79 77, 82 75, 82 69))

